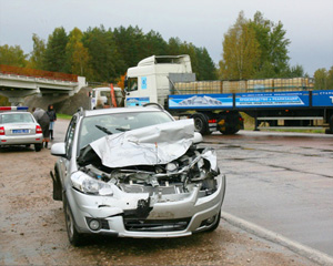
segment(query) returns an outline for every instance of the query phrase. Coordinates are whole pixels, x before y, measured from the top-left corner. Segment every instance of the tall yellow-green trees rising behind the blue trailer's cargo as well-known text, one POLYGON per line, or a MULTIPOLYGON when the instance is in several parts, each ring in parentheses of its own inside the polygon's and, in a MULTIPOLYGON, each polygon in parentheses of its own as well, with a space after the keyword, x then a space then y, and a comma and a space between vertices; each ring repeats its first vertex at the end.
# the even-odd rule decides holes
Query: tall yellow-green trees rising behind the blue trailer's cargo
MULTIPOLYGON (((249 80, 307 76, 302 65, 291 66, 289 45, 281 21, 274 23, 258 11, 246 19, 241 11, 235 23, 223 39, 219 78, 222 80, 249 80)), ((315 89, 324 83, 333 89, 333 66, 314 73, 315 89)))

